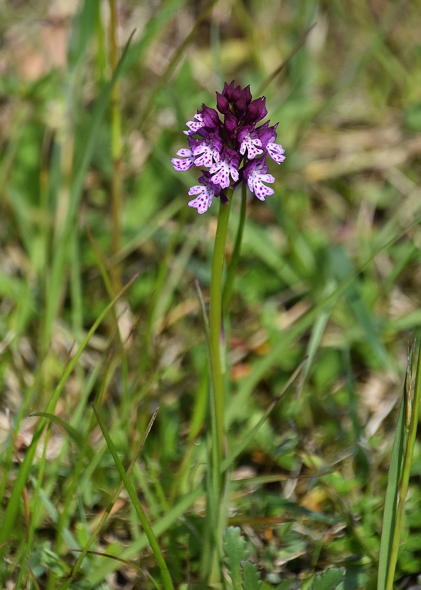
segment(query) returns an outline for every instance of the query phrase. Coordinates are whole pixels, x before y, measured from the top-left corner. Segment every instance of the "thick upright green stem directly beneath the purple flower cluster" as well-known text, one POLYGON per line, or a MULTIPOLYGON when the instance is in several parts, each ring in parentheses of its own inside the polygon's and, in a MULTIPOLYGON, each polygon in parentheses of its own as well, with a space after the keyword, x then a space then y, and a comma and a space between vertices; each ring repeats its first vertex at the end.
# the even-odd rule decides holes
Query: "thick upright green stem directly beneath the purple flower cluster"
POLYGON ((226 232, 231 209, 232 189, 227 189, 228 203, 219 205, 218 226, 213 247, 212 278, 210 279, 209 350, 212 372, 213 405, 215 408, 218 458, 223 459, 224 435, 224 376, 222 369, 222 271, 225 257, 226 232))

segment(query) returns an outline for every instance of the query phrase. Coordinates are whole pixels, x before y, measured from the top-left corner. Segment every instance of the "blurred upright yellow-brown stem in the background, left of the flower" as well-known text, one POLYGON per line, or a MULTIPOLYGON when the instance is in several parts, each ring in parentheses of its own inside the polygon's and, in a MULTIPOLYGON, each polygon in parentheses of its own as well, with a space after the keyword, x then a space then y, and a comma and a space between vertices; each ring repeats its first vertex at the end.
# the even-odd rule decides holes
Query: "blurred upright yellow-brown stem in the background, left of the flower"
MULTIPOLYGON (((117 45, 117 0, 110 2, 110 65, 114 73, 119 61, 117 45)), ((111 182, 111 256, 120 251, 121 233, 121 112, 120 112, 120 86, 116 81, 111 93, 111 156, 113 158, 113 179, 111 182)), ((118 293, 120 287, 120 264, 111 267, 111 283, 113 295, 118 293)))

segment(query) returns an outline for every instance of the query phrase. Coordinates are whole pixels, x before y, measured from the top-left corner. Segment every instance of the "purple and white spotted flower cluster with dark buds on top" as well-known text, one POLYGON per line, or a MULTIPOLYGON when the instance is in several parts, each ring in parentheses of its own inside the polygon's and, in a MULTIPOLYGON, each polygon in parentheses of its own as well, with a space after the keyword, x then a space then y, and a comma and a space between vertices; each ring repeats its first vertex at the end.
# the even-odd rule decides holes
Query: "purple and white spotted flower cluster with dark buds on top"
POLYGON ((285 160, 284 149, 278 143, 276 129, 278 123, 269 127, 269 121, 256 127, 268 114, 265 97, 252 100, 250 87, 235 87, 234 81, 226 84, 216 93, 216 108, 223 115, 223 122, 215 109, 202 104, 188 121, 189 148, 180 149, 173 158, 174 169, 185 171, 195 166, 203 166, 199 184, 192 186, 189 195, 198 195, 189 202, 189 207, 205 213, 214 196, 226 199, 225 189, 235 187, 239 182, 247 183, 261 201, 274 194, 274 189, 264 182, 275 182, 268 174, 266 156, 280 164, 285 160))

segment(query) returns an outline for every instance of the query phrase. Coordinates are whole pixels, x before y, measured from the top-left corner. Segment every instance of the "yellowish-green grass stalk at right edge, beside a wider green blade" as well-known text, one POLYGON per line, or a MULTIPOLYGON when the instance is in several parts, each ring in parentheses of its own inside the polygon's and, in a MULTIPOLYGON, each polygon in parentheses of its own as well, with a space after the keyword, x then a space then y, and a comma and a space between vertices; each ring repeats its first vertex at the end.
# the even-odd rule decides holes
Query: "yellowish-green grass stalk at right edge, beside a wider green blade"
POLYGON ((419 344, 419 348, 418 348, 418 359, 417 359, 417 369, 416 369, 416 377, 415 377, 415 389, 414 389, 413 403, 412 403, 412 399, 411 399, 410 380, 409 380, 409 386, 407 388, 407 391, 405 392, 406 398, 407 398, 406 425, 409 424, 409 428, 407 428, 406 445, 404 448, 404 461, 403 461, 402 478, 401 478, 400 487, 399 487, 399 496, 398 496, 397 511, 396 511, 396 523, 394 526, 392 550, 390 552, 390 559, 389 559, 389 565, 388 565, 388 571, 387 571, 387 582, 386 582, 385 590, 393 590, 394 572, 396 569, 397 554, 398 554, 399 545, 400 545, 400 537, 402 535, 402 524, 403 524, 403 517, 404 517, 404 512, 405 512, 406 496, 408 493, 409 476, 410 476, 410 471, 411 471, 412 457, 413 457, 413 453, 414 453, 415 440, 416 440, 416 434, 417 434, 417 425, 418 425, 418 418, 419 418, 420 395, 421 395, 420 373, 421 373, 421 340, 420 340, 420 344, 419 344))

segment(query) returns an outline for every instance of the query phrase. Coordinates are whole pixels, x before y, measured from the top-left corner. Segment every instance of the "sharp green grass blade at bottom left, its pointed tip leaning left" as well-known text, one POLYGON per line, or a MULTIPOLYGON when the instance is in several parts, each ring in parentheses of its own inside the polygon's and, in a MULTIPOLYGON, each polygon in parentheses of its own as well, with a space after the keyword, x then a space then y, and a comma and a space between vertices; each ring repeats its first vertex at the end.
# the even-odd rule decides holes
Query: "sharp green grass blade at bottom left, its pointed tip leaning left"
POLYGON ((120 457, 117 453, 116 447, 114 447, 110 435, 108 434, 103 419, 100 417, 96 407, 94 405, 92 405, 92 407, 95 412, 98 424, 100 425, 101 431, 103 432, 104 438, 106 440, 108 450, 110 451, 114 463, 116 464, 116 467, 119 470, 120 477, 123 480, 124 487, 126 488, 127 493, 129 494, 134 510, 136 510, 136 514, 140 520, 140 524, 142 525, 143 530, 146 533, 150 548, 152 549, 153 555, 155 556, 157 565, 162 575, 162 582, 164 588, 165 590, 174 590, 173 582, 168 571, 167 564, 158 545, 156 536, 154 535, 154 532, 152 530, 152 526, 150 526, 149 520, 147 519, 146 514, 143 512, 142 504, 140 504, 139 498, 136 494, 136 490, 134 490, 134 487, 131 485, 129 478, 127 477, 126 471, 124 470, 123 464, 121 464, 120 457))

